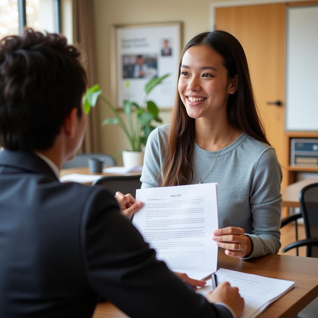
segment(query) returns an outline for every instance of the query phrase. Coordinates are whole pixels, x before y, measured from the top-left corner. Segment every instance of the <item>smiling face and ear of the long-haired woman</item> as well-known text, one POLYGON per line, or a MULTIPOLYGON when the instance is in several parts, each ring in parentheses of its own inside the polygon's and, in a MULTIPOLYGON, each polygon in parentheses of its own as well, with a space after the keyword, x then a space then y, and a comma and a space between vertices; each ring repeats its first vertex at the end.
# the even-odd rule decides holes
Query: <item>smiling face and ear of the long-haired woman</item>
POLYGON ((212 118, 226 114, 230 94, 236 92, 237 75, 228 78, 223 58, 206 44, 191 46, 183 55, 178 90, 191 118, 212 118))

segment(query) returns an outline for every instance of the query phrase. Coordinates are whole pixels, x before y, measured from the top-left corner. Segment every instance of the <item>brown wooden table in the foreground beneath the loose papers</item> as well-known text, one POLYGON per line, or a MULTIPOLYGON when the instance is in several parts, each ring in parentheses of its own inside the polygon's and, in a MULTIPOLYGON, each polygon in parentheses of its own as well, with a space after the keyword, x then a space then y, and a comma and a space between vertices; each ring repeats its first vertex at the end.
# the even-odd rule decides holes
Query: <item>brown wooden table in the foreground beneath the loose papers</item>
MULTIPOLYGON (((295 287, 269 305, 259 318, 295 317, 318 296, 318 259, 310 257, 270 254, 257 259, 241 260, 218 251, 218 268, 292 280, 295 287)), ((123 312, 109 302, 100 303, 93 318, 124 318, 123 312)))

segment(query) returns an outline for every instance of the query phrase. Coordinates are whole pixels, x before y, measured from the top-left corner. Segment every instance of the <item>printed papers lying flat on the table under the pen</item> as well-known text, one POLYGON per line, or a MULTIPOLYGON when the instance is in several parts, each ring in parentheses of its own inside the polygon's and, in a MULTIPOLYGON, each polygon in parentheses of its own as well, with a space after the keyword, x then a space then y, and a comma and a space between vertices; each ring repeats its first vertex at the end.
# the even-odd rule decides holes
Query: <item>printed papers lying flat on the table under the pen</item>
MULTIPOLYGON (((220 268, 216 273, 218 284, 228 281, 232 287, 238 287, 244 298, 244 311, 240 318, 254 318, 276 299, 287 293, 295 285, 294 281, 280 280, 254 274, 241 273, 220 268)), ((204 287, 198 288, 198 294, 212 290, 212 280, 204 287)))

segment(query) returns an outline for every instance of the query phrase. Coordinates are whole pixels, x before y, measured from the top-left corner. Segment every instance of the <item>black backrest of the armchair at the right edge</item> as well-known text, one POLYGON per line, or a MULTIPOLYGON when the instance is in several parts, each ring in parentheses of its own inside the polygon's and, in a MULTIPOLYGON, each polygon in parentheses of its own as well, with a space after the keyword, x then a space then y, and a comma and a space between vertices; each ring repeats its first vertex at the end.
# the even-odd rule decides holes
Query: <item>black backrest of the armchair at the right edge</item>
MULTIPOLYGON (((299 194, 301 213, 307 239, 318 238, 318 183, 301 189, 299 194)), ((318 246, 307 246, 307 256, 318 258, 318 246)))

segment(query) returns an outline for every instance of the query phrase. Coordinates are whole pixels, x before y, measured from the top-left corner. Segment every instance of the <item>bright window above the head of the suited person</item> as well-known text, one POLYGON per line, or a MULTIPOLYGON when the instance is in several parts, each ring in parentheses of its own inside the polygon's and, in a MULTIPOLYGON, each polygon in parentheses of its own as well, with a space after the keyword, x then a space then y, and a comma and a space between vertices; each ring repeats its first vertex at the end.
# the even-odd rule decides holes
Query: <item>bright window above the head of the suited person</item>
POLYGON ((60 0, 0 0, 0 38, 25 27, 60 32, 60 0))

